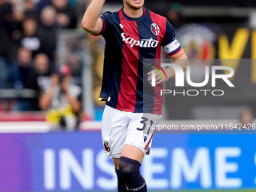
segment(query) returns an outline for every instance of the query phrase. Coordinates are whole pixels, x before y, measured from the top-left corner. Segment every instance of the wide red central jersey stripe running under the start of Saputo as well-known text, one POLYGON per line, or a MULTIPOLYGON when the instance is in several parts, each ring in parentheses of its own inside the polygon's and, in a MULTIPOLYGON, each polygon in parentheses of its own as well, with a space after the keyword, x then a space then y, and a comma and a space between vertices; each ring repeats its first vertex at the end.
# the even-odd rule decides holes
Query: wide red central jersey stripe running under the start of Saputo
POLYGON ((133 38, 138 41, 139 32, 136 21, 126 20, 121 10, 119 11, 119 15, 120 22, 123 25, 123 32, 126 33, 126 40, 123 41, 123 64, 117 109, 133 112, 136 107, 139 46, 131 47, 130 41, 133 41, 133 38))

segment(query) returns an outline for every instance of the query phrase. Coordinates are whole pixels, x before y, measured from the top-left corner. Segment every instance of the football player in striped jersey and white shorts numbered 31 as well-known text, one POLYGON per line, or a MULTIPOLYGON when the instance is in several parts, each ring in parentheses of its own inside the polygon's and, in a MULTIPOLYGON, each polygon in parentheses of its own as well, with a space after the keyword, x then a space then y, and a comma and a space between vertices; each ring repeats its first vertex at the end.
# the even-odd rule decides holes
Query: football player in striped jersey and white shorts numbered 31
POLYGON ((172 25, 146 9, 144 0, 123 0, 123 8, 100 15, 105 0, 93 0, 81 26, 92 35, 105 38, 105 59, 100 99, 106 101, 102 116, 102 142, 114 160, 118 191, 147 191, 140 166, 149 153, 152 133, 145 126, 162 117, 163 81, 175 77, 172 68, 165 78, 156 73, 151 86, 152 67, 144 59, 160 59, 161 47, 174 63, 186 69, 187 56, 176 39, 172 25), (145 84, 145 80, 148 84, 145 84), (148 93, 146 93, 148 91, 148 93))

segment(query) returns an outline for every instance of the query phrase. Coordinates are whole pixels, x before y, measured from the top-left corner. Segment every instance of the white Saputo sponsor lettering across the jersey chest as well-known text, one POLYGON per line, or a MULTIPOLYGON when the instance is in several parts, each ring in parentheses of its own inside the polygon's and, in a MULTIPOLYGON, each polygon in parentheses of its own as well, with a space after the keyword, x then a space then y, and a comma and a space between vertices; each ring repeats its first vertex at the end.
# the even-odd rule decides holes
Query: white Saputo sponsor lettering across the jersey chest
POLYGON ((157 44, 159 41, 154 40, 153 38, 150 39, 142 39, 141 41, 138 41, 134 38, 130 38, 129 35, 127 35, 125 32, 121 34, 122 41, 126 42, 126 44, 130 44, 130 47, 133 46, 139 46, 139 47, 157 47, 157 44))

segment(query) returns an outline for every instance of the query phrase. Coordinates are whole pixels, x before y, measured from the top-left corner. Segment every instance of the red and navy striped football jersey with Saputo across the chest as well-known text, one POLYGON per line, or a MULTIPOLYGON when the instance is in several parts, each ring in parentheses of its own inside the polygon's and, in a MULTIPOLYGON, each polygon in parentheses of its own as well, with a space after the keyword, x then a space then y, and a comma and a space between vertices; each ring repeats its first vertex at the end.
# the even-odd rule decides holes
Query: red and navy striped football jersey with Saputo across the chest
POLYGON ((100 98, 121 111, 162 114, 163 84, 151 87, 148 72, 160 65, 161 47, 172 55, 181 50, 172 25, 143 8, 139 18, 126 16, 123 8, 102 14, 105 58, 100 98), (145 62, 145 59, 156 62, 145 62))

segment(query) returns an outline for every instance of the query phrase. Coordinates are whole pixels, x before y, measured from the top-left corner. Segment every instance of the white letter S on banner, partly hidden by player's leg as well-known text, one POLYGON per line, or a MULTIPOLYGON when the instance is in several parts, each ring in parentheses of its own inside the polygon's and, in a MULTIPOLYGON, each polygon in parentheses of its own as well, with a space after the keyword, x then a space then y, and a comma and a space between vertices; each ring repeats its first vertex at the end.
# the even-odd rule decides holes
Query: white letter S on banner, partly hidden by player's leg
POLYGON ((109 162, 110 158, 105 157, 105 151, 99 151, 96 157, 96 165, 102 172, 111 175, 111 178, 99 177, 96 180, 97 186, 105 190, 115 190, 117 188, 117 175, 114 172, 112 160, 109 162))

